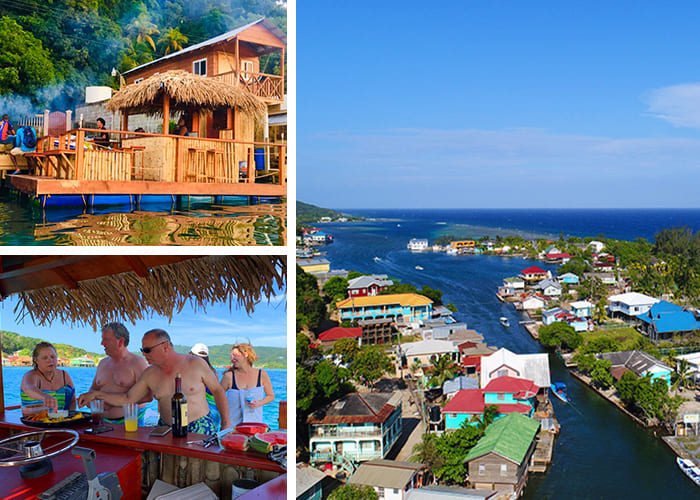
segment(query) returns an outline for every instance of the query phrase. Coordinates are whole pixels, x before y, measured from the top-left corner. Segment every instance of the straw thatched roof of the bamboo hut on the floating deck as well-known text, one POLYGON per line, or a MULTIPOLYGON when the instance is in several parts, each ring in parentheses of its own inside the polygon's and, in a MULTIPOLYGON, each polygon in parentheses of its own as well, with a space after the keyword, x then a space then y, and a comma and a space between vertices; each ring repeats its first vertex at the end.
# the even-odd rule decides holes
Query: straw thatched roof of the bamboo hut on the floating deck
POLYGON ((181 70, 166 71, 127 85, 114 94, 107 103, 107 109, 130 114, 162 115, 165 94, 170 97, 171 111, 212 111, 237 107, 258 120, 267 113, 265 103, 250 92, 214 78, 181 70))

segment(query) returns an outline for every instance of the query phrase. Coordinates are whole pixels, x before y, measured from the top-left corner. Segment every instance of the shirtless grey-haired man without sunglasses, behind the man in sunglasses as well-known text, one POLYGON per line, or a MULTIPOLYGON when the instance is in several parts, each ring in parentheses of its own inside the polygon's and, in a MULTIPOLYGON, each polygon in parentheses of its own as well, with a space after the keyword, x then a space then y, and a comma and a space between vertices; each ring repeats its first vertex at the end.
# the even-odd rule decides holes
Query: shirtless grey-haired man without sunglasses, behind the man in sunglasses
MULTIPOLYGON (((121 323, 108 323, 102 327, 102 347, 108 357, 97 366, 91 391, 126 393, 136 383, 148 363, 141 356, 129 352, 129 330, 121 323)), ((146 403, 153 396, 149 392, 139 400, 139 420, 143 421, 146 403)), ((124 410, 121 406, 105 404, 105 421, 114 424, 124 423, 124 410)))

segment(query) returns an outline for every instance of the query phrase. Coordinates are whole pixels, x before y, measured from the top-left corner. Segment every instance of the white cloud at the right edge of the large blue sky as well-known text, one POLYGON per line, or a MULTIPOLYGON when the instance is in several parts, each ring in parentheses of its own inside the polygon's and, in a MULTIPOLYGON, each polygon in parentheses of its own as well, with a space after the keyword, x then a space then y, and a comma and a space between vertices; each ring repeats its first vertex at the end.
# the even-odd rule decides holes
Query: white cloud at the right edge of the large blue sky
POLYGON ((677 127, 700 128, 700 83, 683 83, 650 91, 648 113, 677 127))

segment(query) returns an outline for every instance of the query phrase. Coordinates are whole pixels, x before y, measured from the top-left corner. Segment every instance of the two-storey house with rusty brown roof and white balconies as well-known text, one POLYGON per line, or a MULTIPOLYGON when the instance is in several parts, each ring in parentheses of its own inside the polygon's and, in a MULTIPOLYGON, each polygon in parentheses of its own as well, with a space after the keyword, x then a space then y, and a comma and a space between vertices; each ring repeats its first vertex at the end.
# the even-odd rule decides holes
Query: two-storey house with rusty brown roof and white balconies
POLYGON ((351 393, 308 419, 312 464, 384 458, 401 435, 401 394, 351 393))

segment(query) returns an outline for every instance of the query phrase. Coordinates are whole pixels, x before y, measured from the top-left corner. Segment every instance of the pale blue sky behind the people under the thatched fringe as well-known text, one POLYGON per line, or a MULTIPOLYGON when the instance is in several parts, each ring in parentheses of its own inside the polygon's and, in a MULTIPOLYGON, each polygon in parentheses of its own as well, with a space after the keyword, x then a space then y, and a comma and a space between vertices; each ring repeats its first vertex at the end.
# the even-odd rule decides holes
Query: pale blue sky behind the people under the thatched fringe
MULTIPOLYGON (((129 350, 141 347, 141 337, 152 328, 162 328, 170 334, 175 344, 207 345, 251 342, 254 346, 286 347, 287 297, 279 293, 270 303, 261 302, 248 316, 245 310, 235 307, 229 312, 228 305, 214 304, 206 312, 194 312, 185 306, 180 314, 173 316, 171 323, 165 317, 154 316, 146 321, 126 324, 131 340, 129 350)), ((99 354, 104 353, 100 345, 101 333, 91 327, 54 323, 48 327, 37 327, 27 318, 17 324, 13 313, 17 301, 10 297, 0 303, 0 329, 28 337, 38 337, 50 342, 70 344, 99 354)))

